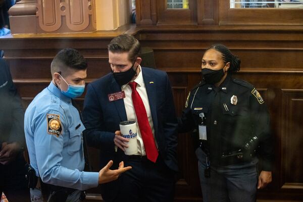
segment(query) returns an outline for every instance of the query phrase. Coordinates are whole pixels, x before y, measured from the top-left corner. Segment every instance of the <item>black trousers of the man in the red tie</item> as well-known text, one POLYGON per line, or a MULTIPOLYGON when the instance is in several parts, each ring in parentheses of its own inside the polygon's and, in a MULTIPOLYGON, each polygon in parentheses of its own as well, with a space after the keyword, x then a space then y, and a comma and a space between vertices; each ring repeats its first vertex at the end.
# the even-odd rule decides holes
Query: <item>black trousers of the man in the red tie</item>
POLYGON ((146 157, 129 156, 125 166, 132 169, 121 175, 118 201, 173 201, 175 172, 161 157, 153 163, 146 157))

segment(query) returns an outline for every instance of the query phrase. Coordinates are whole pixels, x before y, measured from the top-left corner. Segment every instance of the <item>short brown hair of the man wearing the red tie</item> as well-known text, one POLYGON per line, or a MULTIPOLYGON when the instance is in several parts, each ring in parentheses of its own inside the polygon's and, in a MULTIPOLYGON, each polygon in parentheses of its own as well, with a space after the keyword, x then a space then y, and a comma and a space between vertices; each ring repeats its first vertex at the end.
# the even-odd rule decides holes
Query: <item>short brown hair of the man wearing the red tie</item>
POLYGON ((141 45, 132 35, 121 34, 111 40, 108 45, 108 51, 112 53, 128 52, 128 60, 134 62, 141 53, 141 45))

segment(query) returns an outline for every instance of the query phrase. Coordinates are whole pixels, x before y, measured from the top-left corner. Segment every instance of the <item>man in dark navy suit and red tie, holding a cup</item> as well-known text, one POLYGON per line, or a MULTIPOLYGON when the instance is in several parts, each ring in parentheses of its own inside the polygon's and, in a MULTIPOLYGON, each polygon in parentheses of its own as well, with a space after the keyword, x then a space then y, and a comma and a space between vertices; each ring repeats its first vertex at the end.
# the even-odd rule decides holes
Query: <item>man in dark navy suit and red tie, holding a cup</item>
MULTIPOLYGON (((99 148, 100 166, 123 160, 132 170, 102 185, 105 201, 173 201, 177 120, 165 72, 140 67, 140 43, 131 35, 108 45, 112 72, 90 83, 84 100, 88 143, 99 148), (136 121, 137 153, 125 155, 128 139, 119 123, 136 121)), ((118 165, 115 165, 116 167, 118 165)))

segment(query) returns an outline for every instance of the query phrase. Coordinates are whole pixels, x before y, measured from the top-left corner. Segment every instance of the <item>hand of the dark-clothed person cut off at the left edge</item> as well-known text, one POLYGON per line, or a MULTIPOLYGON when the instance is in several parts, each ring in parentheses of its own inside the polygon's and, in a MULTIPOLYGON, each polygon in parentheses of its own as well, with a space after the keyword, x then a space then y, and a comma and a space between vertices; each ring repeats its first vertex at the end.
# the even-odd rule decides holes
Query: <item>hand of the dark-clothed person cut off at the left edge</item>
POLYGON ((0 164, 8 165, 15 160, 21 146, 18 142, 8 144, 7 142, 2 143, 2 149, 0 151, 0 164))

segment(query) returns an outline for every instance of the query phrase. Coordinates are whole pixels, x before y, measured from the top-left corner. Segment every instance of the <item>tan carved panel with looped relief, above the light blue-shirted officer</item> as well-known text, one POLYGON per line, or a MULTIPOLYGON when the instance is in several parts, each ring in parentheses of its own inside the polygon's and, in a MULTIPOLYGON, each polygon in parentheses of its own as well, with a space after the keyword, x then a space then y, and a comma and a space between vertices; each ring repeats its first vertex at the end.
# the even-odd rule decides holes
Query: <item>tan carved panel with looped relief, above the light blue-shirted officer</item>
POLYGON ((96 30, 95 0, 37 0, 37 33, 96 30))

